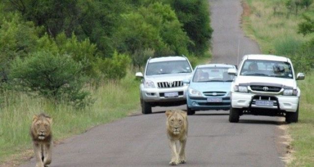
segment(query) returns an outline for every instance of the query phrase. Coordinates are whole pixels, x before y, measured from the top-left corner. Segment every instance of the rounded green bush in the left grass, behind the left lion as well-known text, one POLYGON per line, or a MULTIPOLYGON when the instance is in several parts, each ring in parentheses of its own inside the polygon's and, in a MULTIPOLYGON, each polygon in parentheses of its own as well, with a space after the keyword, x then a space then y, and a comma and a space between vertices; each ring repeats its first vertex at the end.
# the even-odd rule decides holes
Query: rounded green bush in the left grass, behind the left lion
POLYGON ((89 95, 82 91, 84 75, 82 65, 69 55, 53 55, 40 51, 26 58, 17 58, 11 65, 10 78, 14 89, 33 95, 65 100, 73 105, 84 105, 89 95))

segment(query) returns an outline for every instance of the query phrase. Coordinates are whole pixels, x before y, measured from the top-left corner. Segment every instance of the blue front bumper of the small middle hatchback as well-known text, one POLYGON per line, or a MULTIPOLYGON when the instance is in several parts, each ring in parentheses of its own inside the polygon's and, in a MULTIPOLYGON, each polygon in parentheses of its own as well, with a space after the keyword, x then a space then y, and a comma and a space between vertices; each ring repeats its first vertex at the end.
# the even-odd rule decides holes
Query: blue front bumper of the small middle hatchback
POLYGON ((208 102, 208 97, 190 97, 187 96, 187 106, 191 110, 229 110, 231 101, 230 96, 217 97, 222 98, 222 102, 208 102))

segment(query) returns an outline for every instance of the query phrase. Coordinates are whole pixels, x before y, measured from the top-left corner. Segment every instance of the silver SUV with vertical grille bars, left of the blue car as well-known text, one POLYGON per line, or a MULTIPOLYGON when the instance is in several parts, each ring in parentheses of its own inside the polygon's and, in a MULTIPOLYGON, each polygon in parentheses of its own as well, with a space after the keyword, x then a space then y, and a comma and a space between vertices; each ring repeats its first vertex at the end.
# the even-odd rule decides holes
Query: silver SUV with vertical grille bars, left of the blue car
POLYGON ((183 79, 192 74, 192 67, 185 56, 157 57, 147 60, 140 84, 140 100, 143 114, 152 113, 154 106, 176 106, 186 104, 187 85, 183 79))

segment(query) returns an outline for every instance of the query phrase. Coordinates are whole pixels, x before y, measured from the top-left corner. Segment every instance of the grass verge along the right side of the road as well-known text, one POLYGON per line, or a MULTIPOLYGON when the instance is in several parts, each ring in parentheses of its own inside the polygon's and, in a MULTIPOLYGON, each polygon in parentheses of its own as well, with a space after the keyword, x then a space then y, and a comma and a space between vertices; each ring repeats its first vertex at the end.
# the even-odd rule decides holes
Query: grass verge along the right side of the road
MULTIPOLYGON (((313 35, 302 36, 297 33, 301 14, 289 11, 281 0, 243 0, 247 9, 243 14, 243 29, 255 39, 263 53, 293 56, 302 42, 313 35)), ((313 5, 310 9, 313 10, 313 5)), ((300 13, 307 12, 305 9, 300 13)), ((293 151, 288 167, 314 166, 314 72, 309 72, 304 81, 298 81, 301 89, 299 122, 288 125, 292 137, 293 151)))

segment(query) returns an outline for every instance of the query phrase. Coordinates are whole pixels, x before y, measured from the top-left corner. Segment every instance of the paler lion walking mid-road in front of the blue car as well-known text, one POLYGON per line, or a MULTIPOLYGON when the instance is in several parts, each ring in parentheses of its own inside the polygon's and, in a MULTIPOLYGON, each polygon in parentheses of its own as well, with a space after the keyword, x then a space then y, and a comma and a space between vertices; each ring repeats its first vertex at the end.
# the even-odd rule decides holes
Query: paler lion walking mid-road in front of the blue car
POLYGON ((185 144, 187 138, 187 115, 182 110, 166 111, 166 128, 171 150, 171 161, 169 165, 184 164, 185 161, 185 144), (180 142, 180 150, 177 152, 176 142, 180 142))

